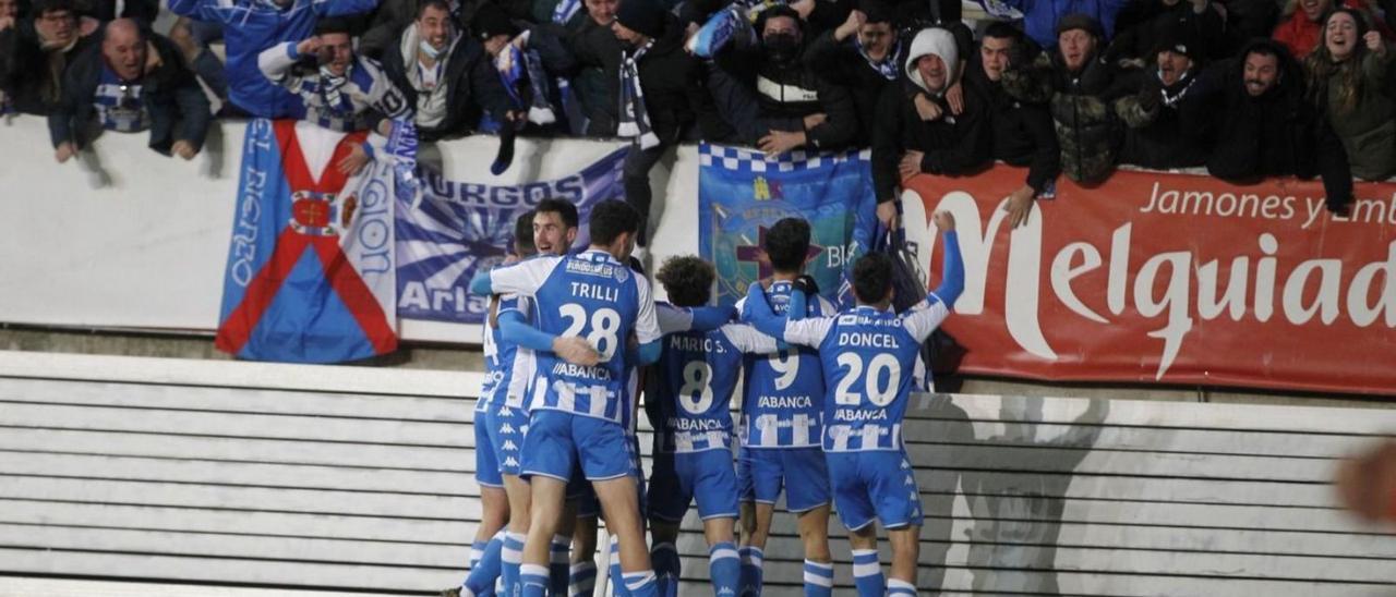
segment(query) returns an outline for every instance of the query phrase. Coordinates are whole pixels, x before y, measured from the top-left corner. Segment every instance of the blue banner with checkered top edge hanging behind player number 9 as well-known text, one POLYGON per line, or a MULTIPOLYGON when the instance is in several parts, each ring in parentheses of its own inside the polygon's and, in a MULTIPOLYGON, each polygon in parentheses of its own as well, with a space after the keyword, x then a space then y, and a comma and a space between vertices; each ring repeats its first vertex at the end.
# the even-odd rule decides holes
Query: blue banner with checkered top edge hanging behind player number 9
POLYGON ((805 273, 835 304, 852 303, 843 273, 867 251, 877 227, 868 151, 766 158, 702 144, 698 158, 699 252, 718 268, 718 304, 734 304, 751 282, 772 273, 762 240, 771 225, 790 216, 810 222, 805 273))

